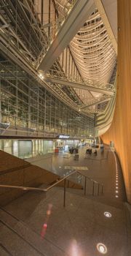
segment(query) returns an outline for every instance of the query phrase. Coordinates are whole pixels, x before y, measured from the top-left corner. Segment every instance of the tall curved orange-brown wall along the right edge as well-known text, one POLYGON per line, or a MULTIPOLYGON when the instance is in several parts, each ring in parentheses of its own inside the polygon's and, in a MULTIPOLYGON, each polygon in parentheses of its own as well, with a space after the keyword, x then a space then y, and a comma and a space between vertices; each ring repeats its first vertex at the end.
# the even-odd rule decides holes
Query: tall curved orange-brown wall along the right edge
POLYGON ((131 1, 118 2, 118 72, 114 120, 101 136, 104 143, 114 140, 119 156, 127 200, 131 203, 131 1))

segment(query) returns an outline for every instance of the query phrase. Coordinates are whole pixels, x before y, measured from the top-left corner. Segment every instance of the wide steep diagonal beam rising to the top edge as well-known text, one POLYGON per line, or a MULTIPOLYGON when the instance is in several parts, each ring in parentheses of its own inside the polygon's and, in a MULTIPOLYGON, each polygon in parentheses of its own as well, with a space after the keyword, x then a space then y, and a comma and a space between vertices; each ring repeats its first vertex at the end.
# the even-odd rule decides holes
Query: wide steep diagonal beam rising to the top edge
POLYGON ((45 72, 52 67, 52 64, 54 64, 69 42, 71 42, 71 39, 74 38, 79 29, 82 28, 85 20, 92 14, 94 9, 94 0, 76 1, 47 53, 43 56, 39 69, 45 72))

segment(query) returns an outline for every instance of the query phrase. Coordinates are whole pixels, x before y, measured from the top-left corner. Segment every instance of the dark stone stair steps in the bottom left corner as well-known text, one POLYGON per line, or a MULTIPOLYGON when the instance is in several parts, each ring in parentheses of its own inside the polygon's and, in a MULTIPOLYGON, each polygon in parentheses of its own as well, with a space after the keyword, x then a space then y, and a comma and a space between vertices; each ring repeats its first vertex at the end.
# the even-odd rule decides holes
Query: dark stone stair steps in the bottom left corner
POLYGON ((24 222, 18 220, 16 217, 13 217, 12 214, 9 214, 7 211, 4 211, 1 208, 0 219, 0 236, 2 238, 3 244, 9 250, 9 252, 15 252, 16 254, 14 255, 27 256, 27 252, 30 251, 32 253, 31 256, 65 256, 65 252, 63 252, 63 250, 59 249, 46 238, 41 238, 41 230, 39 230, 39 234, 37 234, 35 231, 31 230, 28 225, 25 225, 24 222), (15 239, 17 239, 18 246, 16 246, 15 239), (14 243, 12 242, 12 240, 14 241, 14 243), (23 244, 25 248, 23 248, 23 244), (20 249, 20 252, 16 252, 18 248, 20 249), (23 254, 23 249, 25 249, 25 254, 23 254))

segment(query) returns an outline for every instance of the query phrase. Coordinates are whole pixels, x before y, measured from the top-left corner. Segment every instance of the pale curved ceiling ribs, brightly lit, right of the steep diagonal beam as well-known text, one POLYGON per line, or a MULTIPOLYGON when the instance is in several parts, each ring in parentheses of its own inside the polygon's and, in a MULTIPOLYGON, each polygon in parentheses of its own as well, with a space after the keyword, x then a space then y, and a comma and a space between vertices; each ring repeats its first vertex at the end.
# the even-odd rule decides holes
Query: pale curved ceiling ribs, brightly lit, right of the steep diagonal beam
POLYGON ((116 51, 98 10, 71 40, 70 50, 84 81, 110 83, 116 65, 116 51))

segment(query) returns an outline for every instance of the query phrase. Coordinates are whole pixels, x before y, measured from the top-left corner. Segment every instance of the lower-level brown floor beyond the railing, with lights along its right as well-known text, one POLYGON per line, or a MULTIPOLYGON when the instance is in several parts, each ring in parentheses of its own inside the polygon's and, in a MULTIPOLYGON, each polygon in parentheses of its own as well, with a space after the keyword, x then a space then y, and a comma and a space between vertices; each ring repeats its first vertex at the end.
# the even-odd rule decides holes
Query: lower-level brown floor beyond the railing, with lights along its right
MULTIPOLYGON (((124 181, 122 176, 122 170, 118 162, 118 173, 116 173, 116 162, 114 154, 110 148, 105 146, 103 153, 98 148, 98 154, 95 156, 92 148, 92 154, 86 155, 87 147, 79 148, 79 160, 74 160, 74 154, 71 154, 70 158, 64 158, 63 153, 54 154, 52 157, 33 157, 27 159, 32 165, 44 167, 44 169, 52 171, 59 176, 66 176, 71 173, 71 170, 80 170, 80 172, 95 181, 103 184, 104 194, 101 200, 107 200, 112 202, 124 202, 126 200, 124 181), (87 170, 86 170, 87 168, 87 170), (116 175, 118 175, 118 186, 116 186, 116 175), (116 187, 119 189, 118 197, 116 197, 116 187), (105 198, 105 199, 104 199, 105 198)), ((84 187, 84 177, 81 175, 76 177, 79 184, 84 187)), ((95 194, 97 195, 98 187, 95 187, 95 194)), ((87 181, 87 195, 92 195, 92 183, 87 181)), ((98 197, 97 197, 98 200, 98 197)), ((114 203, 113 203, 114 204, 114 203)))

